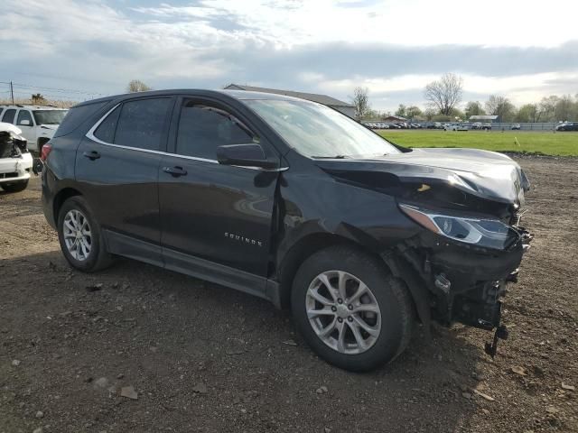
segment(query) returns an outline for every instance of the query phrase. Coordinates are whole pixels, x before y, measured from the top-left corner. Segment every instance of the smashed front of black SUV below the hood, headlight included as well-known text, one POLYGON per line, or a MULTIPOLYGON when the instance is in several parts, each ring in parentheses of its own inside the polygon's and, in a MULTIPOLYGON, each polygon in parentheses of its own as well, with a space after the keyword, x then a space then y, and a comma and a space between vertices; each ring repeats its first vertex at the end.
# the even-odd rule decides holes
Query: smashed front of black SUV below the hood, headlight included
MULTIPOLYGON (((424 184, 420 188, 423 191, 424 184)), ((508 337, 501 324, 501 298, 507 284, 517 282, 522 256, 532 240, 520 226, 523 192, 520 188, 521 200, 513 203, 480 198, 462 200, 461 206, 449 201, 433 207, 433 200, 423 200, 425 206, 398 203, 407 217, 427 229, 397 245, 397 250, 429 291, 432 318, 445 326, 461 322, 496 329, 485 347, 492 357, 498 340, 508 337)))

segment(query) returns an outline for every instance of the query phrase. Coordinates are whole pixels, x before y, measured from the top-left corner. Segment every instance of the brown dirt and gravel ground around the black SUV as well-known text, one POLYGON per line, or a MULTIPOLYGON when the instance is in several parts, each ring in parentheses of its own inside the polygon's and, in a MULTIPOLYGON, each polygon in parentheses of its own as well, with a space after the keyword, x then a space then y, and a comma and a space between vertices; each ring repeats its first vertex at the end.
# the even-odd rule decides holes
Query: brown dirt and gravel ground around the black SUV
POLYGON ((518 161, 536 239, 499 355, 487 332, 434 327, 364 374, 264 300, 129 260, 71 271, 39 181, 0 193, 0 432, 578 431, 578 160, 518 161))

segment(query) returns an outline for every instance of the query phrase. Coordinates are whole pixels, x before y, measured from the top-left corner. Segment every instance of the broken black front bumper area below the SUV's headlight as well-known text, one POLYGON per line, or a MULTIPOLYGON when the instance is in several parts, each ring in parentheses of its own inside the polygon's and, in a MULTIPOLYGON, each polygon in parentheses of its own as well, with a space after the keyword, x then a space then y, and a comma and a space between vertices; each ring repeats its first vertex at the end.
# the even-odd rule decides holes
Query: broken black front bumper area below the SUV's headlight
POLYGON ((517 272, 531 235, 518 227, 516 244, 500 251, 472 247, 424 232, 402 248, 406 261, 429 292, 431 317, 445 326, 461 322, 491 330, 499 327, 501 298, 517 272))

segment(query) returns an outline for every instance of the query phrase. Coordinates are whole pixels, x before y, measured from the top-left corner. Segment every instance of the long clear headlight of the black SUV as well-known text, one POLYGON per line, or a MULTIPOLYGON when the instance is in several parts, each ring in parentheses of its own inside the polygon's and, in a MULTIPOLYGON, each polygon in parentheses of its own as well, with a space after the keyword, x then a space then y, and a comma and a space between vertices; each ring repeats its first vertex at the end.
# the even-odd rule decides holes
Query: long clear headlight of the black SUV
POLYGON ((407 217, 433 233, 465 244, 504 250, 519 238, 516 230, 497 219, 442 215, 411 205, 399 207, 407 217))

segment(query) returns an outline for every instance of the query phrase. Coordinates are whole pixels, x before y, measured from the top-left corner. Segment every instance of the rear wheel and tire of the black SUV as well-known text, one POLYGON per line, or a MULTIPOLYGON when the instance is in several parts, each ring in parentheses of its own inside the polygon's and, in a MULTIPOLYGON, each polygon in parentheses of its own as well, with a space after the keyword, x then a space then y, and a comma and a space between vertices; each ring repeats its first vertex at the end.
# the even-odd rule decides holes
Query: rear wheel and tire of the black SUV
POLYGON ((82 272, 97 272, 107 268, 112 264, 112 256, 107 253, 102 231, 94 213, 90 210, 87 201, 81 196, 74 196, 67 199, 58 214, 58 239, 61 243, 61 250, 70 266, 82 272), (88 226, 88 231, 83 228, 84 221, 88 226), (82 245, 76 237, 70 237, 70 227, 81 228, 82 245), (89 235, 85 235, 85 234, 89 235), (67 240, 76 244, 69 247, 67 240))

